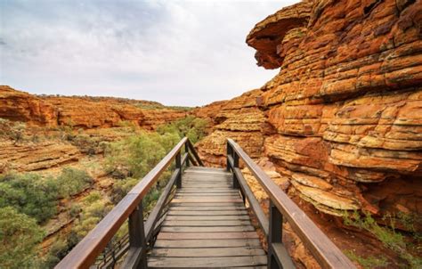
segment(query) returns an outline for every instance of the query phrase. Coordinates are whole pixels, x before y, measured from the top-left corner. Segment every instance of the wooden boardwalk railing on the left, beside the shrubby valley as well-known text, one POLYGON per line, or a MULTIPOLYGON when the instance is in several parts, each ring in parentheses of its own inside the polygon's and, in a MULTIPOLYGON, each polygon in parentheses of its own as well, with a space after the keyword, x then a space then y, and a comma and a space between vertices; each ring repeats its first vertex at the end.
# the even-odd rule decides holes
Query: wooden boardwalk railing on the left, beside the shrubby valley
POLYGON ((185 137, 120 200, 118 205, 56 265, 56 268, 89 268, 103 249, 107 247, 118 229, 125 224, 126 220, 129 222, 129 249, 122 268, 146 268, 147 244, 157 230, 156 224, 162 217, 163 208, 166 206, 166 200, 173 189, 174 183, 177 188, 182 186, 183 165, 190 166, 190 163, 203 166, 192 143, 185 137), (183 147, 185 152, 182 156, 183 147), (144 224, 142 199, 154 183, 158 182, 159 176, 170 166, 173 160, 175 160, 174 173, 144 224))

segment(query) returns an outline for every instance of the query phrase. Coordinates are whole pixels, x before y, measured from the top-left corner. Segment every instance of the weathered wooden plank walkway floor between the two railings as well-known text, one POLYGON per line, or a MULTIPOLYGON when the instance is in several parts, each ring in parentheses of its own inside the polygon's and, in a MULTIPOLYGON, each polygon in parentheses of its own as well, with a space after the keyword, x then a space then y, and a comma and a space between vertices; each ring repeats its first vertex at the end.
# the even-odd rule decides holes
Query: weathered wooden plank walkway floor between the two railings
POLYGON ((266 268, 267 256, 239 191, 232 188, 231 173, 206 167, 185 170, 148 265, 266 268))

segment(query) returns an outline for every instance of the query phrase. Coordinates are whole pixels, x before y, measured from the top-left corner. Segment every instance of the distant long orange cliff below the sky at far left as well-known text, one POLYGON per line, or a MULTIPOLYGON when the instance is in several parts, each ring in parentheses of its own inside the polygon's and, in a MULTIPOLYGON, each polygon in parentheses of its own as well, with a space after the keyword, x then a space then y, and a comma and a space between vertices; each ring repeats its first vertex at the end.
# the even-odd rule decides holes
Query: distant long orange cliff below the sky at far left
POLYGON ((38 126, 80 128, 114 127, 125 122, 153 129, 160 124, 185 117, 187 112, 171 110, 155 102, 110 97, 37 97, 0 86, 0 118, 38 126), (155 109, 143 109, 154 105, 155 109))

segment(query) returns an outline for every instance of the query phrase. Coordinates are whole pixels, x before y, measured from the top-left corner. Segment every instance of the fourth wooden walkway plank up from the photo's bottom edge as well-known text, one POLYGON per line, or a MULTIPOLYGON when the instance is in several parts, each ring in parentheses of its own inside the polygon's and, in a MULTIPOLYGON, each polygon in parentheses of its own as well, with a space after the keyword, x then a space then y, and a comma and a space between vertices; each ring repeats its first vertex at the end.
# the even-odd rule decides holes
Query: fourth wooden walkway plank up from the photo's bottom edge
POLYGON ((157 239, 257 239, 256 232, 159 232, 157 239))

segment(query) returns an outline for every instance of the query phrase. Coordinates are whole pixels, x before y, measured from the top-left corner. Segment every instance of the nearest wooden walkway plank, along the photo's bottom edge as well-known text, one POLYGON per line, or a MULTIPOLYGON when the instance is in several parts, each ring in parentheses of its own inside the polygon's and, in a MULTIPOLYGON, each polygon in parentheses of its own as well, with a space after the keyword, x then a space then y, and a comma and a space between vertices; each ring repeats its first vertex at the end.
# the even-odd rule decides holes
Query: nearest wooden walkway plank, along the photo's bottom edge
POLYGON ((236 267, 266 265, 266 256, 249 257, 150 257, 148 266, 153 267, 236 267))

